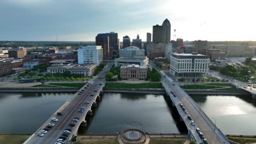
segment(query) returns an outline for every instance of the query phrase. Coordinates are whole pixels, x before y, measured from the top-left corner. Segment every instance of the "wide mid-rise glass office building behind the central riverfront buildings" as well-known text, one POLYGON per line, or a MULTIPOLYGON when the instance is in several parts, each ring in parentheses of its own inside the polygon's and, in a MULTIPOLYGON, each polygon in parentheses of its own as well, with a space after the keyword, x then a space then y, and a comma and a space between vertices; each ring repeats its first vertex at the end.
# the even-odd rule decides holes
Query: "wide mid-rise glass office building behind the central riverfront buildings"
POLYGON ((119 50, 120 57, 135 57, 135 56, 144 56, 145 50, 139 49, 135 46, 129 46, 124 49, 119 50))

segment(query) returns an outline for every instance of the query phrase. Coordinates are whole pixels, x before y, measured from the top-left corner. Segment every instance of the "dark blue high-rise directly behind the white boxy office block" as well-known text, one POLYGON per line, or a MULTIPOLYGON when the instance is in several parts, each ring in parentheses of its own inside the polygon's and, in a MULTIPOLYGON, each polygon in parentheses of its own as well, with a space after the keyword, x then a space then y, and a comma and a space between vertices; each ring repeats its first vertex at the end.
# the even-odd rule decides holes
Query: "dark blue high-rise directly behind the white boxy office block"
POLYGON ((103 59, 108 60, 109 59, 109 37, 107 34, 100 33, 96 36, 96 45, 101 45, 101 48, 103 49, 103 59))

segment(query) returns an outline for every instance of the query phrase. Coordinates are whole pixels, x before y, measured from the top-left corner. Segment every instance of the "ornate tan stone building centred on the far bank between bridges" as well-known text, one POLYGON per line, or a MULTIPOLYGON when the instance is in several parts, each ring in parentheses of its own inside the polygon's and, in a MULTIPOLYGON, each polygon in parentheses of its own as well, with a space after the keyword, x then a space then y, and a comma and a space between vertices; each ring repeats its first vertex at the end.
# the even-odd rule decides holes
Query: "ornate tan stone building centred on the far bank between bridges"
POLYGON ((144 80, 147 77, 147 67, 136 65, 136 64, 121 66, 120 76, 124 80, 127 80, 127 79, 144 80))

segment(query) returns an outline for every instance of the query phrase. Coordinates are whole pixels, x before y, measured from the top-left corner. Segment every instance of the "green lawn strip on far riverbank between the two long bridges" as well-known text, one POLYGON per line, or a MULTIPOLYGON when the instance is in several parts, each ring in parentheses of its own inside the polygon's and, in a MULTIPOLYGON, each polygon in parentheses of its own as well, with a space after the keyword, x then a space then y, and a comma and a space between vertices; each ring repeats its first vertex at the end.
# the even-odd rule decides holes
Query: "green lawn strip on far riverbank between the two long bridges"
POLYGON ((106 88, 162 88, 162 83, 106 83, 106 88))

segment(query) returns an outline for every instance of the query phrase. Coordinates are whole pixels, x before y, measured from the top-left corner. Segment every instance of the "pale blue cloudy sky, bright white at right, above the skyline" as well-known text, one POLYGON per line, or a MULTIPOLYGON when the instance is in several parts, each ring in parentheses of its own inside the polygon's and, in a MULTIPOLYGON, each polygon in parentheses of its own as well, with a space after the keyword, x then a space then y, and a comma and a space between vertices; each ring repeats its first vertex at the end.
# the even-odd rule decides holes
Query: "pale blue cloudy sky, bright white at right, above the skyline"
POLYGON ((0 0, 0 40, 95 41, 117 32, 120 41, 171 22, 171 39, 256 40, 254 0, 0 0))

